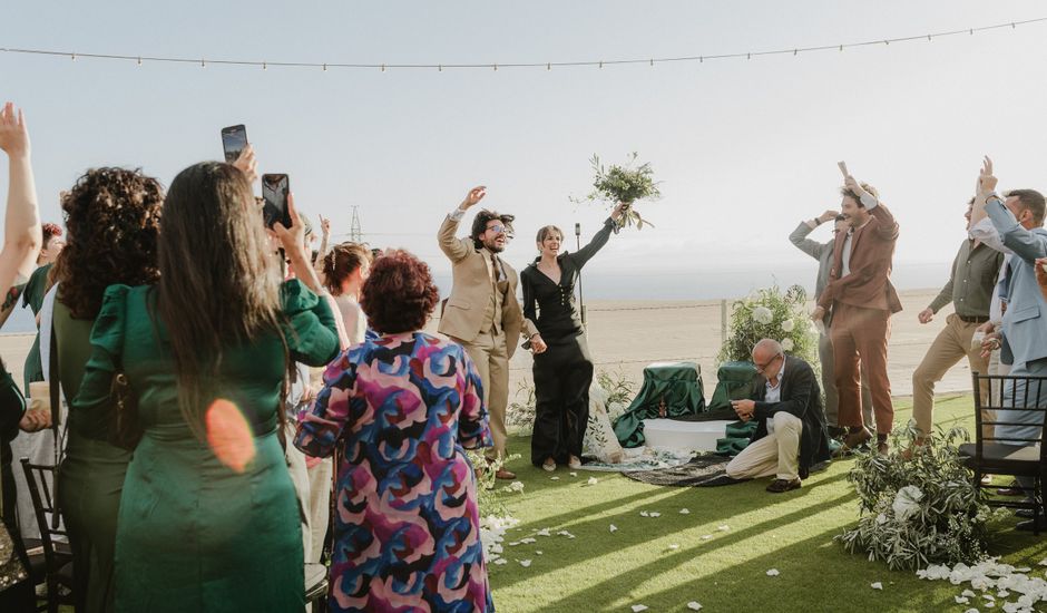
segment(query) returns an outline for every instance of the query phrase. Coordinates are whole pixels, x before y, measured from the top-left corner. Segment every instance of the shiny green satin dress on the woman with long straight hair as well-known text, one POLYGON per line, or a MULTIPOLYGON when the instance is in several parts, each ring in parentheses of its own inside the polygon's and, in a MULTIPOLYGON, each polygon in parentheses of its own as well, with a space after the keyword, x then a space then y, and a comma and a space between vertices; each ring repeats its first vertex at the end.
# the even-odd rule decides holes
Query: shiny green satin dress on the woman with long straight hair
MULTIPOLYGON (((332 360, 339 339, 326 303, 299 281, 284 283, 281 294, 291 359, 310 366, 332 360)), ((116 611, 302 611, 299 508, 276 437, 286 372, 280 338, 260 334, 227 347, 213 381, 214 399, 235 405, 254 434, 254 457, 238 473, 182 417, 155 302, 149 286, 106 290, 74 400, 78 411, 108 406, 112 374, 123 367, 145 428, 117 522, 116 611)))

